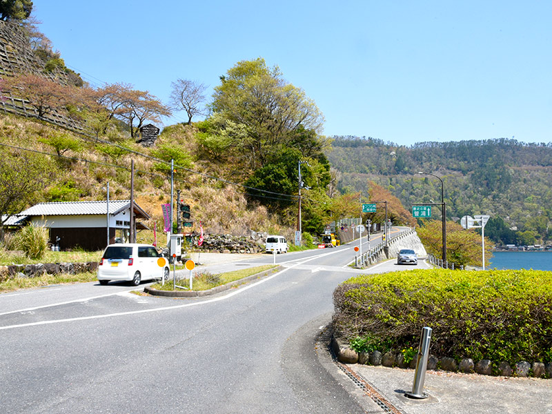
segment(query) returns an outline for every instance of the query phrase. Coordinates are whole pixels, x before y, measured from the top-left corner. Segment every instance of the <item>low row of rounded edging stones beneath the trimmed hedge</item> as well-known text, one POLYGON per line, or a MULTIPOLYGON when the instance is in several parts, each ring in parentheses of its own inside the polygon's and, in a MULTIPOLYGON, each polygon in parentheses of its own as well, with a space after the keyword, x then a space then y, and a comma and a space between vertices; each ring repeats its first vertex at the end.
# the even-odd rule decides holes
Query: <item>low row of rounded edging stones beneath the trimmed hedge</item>
MULTIPOLYGON (((401 352, 389 351, 387 353, 381 353, 380 351, 373 351, 372 353, 357 353, 337 337, 332 337, 331 348, 337 360, 344 364, 397 366, 399 368, 416 367, 416 359, 414 358, 412 361, 406 363, 404 361, 404 355, 401 352)), ((459 363, 456 359, 451 357, 437 358, 433 355, 429 355, 427 369, 433 371, 442 370, 461 373, 477 373, 481 375, 502 375, 504 377, 552 377, 552 364, 544 364, 543 362, 530 363, 520 361, 510 366, 507 362, 493 364, 489 359, 482 359, 475 363, 471 358, 464 358, 460 360, 459 363)))

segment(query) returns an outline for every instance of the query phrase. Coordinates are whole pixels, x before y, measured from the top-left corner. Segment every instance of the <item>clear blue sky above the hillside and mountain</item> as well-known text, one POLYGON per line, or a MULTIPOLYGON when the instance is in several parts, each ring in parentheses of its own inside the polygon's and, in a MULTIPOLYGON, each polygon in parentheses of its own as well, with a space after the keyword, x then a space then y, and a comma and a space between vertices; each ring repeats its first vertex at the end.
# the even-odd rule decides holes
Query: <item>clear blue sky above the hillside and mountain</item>
POLYGON ((325 135, 552 141, 552 1, 33 4, 92 86, 132 83, 168 103, 170 83, 190 79, 210 97, 235 63, 263 57, 316 102, 325 135))

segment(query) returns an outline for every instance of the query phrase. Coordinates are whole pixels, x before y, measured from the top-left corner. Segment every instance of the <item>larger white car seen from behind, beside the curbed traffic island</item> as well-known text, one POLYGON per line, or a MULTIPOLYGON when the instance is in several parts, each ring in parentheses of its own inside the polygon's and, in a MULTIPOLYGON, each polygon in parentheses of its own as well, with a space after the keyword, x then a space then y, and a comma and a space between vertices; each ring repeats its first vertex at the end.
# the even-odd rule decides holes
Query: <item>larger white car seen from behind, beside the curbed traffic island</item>
POLYGON ((167 278, 169 271, 168 260, 157 253, 154 246, 117 243, 110 244, 103 250, 98 264, 98 280, 102 285, 115 280, 138 286, 142 280, 161 279, 163 274, 167 278))

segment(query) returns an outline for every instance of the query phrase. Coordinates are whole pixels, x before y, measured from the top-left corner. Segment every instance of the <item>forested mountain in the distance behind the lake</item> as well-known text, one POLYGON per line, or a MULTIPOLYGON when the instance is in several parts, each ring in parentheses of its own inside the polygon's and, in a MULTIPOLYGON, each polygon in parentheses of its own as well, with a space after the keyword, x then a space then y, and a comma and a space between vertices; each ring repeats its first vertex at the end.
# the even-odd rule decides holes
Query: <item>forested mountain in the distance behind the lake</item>
POLYGON ((366 191, 373 180, 406 208, 440 202, 440 181, 418 174, 431 172, 444 181, 447 217, 491 215, 485 235, 496 242, 534 244, 552 238, 552 143, 501 138, 406 147, 365 137, 333 138, 326 155, 339 171, 342 191, 366 191))

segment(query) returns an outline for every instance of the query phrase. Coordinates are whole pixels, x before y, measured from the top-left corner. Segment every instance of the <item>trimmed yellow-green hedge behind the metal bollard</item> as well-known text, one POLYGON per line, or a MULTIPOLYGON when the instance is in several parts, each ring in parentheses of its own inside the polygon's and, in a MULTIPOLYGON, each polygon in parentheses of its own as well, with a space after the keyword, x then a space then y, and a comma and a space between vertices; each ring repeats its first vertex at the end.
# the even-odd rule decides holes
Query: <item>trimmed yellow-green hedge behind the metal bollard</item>
POLYGON ((353 277, 334 292, 334 326, 357 351, 552 362, 552 272, 407 270, 353 277))

